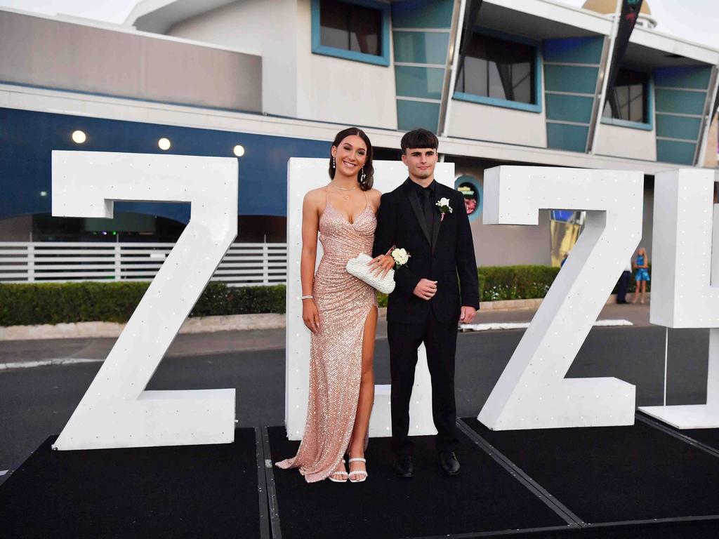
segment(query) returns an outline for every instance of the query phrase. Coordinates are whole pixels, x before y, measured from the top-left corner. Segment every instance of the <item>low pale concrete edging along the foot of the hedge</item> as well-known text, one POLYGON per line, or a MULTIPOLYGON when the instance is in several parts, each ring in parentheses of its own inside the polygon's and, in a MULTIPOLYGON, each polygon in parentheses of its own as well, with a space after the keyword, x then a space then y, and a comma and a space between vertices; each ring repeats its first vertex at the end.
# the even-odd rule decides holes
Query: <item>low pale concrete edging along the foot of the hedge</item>
MULTIPOLYGON (((647 292, 646 298, 650 294, 647 292)), ((541 299, 482 301, 480 310, 513 310, 539 308, 541 299)), ((607 305, 617 303, 610 295, 607 305)), ((380 318, 387 316, 387 308, 380 308, 380 318)), ((42 324, 41 326, 0 326, 0 341, 36 341, 49 338, 117 338, 124 329, 123 323, 78 322, 42 324)), ((285 315, 275 313, 203 316, 188 318, 180 333, 213 333, 214 331, 242 331, 247 329, 280 329, 285 327, 285 315)))

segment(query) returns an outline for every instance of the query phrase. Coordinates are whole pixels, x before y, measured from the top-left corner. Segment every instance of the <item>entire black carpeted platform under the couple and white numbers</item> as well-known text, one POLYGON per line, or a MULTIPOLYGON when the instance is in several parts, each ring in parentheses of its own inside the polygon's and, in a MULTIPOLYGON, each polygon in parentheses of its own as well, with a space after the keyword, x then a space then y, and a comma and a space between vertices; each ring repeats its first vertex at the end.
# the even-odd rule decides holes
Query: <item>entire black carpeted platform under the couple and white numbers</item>
POLYGON ((493 432, 465 418, 456 477, 432 437, 414 438, 411 479, 392 474, 389 438, 372 438, 362 484, 273 467, 299 445, 283 427, 213 446, 52 451, 52 437, 0 486, 0 538, 719 537, 717 433, 637 419, 493 432))

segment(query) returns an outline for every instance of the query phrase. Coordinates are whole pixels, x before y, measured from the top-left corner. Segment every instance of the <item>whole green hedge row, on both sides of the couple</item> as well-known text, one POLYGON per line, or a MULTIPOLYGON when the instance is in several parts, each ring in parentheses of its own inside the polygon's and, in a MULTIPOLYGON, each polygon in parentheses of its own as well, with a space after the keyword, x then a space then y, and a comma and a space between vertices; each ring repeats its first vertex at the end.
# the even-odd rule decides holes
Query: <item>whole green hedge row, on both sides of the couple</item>
MULTIPOLYGON (((559 268, 487 266, 477 269, 482 301, 544 298, 559 268)), ((0 284, 0 326, 86 321, 127 322, 149 282, 0 284)), ((634 290, 631 281, 630 292, 634 290)), ((649 287, 647 287, 649 290, 649 287)), ((387 295, 377 294, 380 307, 387 295)), ((228 287, 211 282, 190 316, 284 313, 285 286, 228 287)))

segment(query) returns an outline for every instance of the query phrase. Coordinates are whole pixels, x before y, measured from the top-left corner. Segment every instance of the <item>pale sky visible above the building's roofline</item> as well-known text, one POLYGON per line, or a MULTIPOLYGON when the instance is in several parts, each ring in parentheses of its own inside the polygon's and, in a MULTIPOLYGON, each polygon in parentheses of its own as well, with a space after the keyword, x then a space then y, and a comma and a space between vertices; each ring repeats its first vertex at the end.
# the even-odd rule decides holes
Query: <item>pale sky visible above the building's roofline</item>
MULTIPOLYGON (((559 1, 575 7, 581 7, 585 2, 559 1)), ((137 0, 0 0, 0 6, 13 9, 50 15, 61 13, 118 24, 124 22, 135 4, 137 0)), ((656 28, 659 32, 719 49, 716 0, 651 0, 649 7, 659 22, 656 28)))

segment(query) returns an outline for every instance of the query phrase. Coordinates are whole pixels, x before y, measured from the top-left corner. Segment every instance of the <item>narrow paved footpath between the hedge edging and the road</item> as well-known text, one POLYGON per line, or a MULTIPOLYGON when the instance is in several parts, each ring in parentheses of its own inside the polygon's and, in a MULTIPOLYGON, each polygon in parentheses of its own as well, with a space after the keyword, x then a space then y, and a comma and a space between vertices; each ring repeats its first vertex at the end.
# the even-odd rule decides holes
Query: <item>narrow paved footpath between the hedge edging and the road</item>
MULTIPOLYGON (((528 322, 536 309, 480 311, 475 323, 528 322)), ((634 326, 649 326, 649 305, 606 305, 599 320, 623 319, 634 326)), ((508 331, 508 330, 504 330, 508 331)), ((387 337, 387 323, 377 323, 377 338, 387 337)), ((115 338, 63 338, 42 341, 0 341, 0 366, 9 363, 67 359, 102 360, 114 345, 115 338)), ((166 357, 202 356, 235 351, 282 349, 284 329, 217 331, 178 335, 166 357)))

